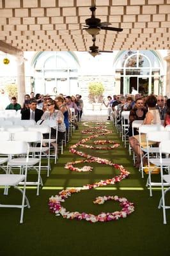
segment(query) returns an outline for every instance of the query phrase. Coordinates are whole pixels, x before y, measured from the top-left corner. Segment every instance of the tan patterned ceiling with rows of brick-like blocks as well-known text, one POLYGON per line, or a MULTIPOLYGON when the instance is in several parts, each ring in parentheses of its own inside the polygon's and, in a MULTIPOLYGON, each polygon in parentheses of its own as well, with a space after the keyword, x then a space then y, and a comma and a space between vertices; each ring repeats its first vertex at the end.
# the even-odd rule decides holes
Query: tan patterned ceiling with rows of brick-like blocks
POLYGON ((0 0, 0 40, 22 51, 88 51, 82 30, 95 15, 122 32, 101 30, 100 50, 169 49, 170 0, 0 0))

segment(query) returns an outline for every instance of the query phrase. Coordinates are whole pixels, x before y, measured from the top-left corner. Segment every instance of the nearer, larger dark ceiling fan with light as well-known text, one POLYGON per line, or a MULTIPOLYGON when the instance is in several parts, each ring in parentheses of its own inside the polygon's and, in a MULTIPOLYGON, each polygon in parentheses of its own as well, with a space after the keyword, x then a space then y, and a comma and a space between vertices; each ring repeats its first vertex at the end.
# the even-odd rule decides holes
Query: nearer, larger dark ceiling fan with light
POLYGON ((110 30, 110 31, 118 31, 121 32, 123 31, 122 28, 112 28, 112 27, 108 27, 109 25, 111 25, 111 23, 109 22, 101 22, 100 19, 95 17, 95 10, 96 10, 96 6, 91 6, 89 8, 89 10, 91 10, 91 18, 86 19, 86 28, 85 29, 89 35, 91 36, 96 36, 99 34, 100 29, 104 29, 104 30, 110 30))

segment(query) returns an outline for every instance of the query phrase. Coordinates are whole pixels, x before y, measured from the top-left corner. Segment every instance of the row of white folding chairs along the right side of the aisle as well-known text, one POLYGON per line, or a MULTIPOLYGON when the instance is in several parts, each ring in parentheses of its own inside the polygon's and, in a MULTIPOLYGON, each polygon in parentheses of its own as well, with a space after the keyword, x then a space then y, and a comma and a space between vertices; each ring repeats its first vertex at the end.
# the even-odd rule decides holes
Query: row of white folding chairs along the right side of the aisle
MULTIPOLYGON (((126 132, 128 131, 128 111, 124 111, 122 115, 122 124, 121 124, 121 138, 126 146, 126 132), (127 122, 125 122, 127 120, 127 122)), ((148 179, 146 186, 150 190, 150 196, 152 196, 152 187, 160 186, 162 188, 162 196, 158 205, 158 208, 163 208, 164 213, 164 223, 166 223, 166 209, 169 209, 170 206, 165 203, 165 195, 170 189, 170 159, 169 159, 169 143, 170 143, 170 125, 166 127, 163 126, 164 120, 161 125, 143 125, 143 120, 135 120, 132 123, 132 134, 134 135, 134 129, 139 129, 139 145, 141 148, 141 166, 139 170, 144 177, 144 168, 148 169, 148 179), (141 134, 146 134, 146 143, 143 145, 141 141, 141 134), (151 145, 154 143, 159 143, 157 147, 151 145), (154 142, 153 142, 154 141, 154 142), (166 157, 162 157, 162 152, 166 154, 166 157), (148 166, 143 166, 143 157, 148 159, 148 166), (153 165, 151 165, 153 164, 153 165), (153 182, 151 180, 151 173, 155 168, 160 168, 160 182, 153 182), (164 174, 164 172, 168 172, 164 174), (164 191, 164 186, 168 187, 164 191)), ((115 123, 114 123, 115 124, 115 123)))

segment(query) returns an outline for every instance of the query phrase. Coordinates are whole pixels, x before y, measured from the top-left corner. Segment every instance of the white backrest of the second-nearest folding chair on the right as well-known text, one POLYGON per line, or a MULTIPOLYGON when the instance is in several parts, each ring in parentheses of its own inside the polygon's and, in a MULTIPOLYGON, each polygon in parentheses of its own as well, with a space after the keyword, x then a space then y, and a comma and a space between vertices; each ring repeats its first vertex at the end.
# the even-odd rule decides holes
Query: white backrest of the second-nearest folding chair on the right
POLYGON ((169 131, 150 131, 146 134, 147 141, 167 141, 170 140, 170 132, 169 131))

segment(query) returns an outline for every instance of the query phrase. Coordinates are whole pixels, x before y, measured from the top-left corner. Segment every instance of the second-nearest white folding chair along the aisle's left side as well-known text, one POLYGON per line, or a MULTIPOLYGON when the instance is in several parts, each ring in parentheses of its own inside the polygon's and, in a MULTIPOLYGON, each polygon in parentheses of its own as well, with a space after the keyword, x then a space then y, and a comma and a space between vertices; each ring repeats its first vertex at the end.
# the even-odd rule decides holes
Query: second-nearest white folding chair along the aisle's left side
MULTIPOLYGON (((28 168, 34 168, 36 172, 38 173, 38 179, 35 182, 27 182, 29 185, 36 185, 37 186, 37 191, 36 195, 39 195, 39 190, 40 190, 40 184, 43 186, 42 182, 42 177, 40 175, 41 173, 41 161, 42 161, 42 134, 41 132, 37 131, 22 131, 22 132, 15 132, 13 133, 13 140, 15 141, 26 141, 27 143, 38 143, 40 142, 40 154, 38 157, 35 157, 33 154, 33 157, 29 157, 27 166, 28 168), (38 166, 36 166, 38 164, 38 166)), ((16 167, 16 166, 22 166, 24 167, 26 158, 25 157, 17 157, 15 159, 12 159, 8 164, 11 167, 16 167)), ((22 168, 22 171, 24 169, 22 168)))

